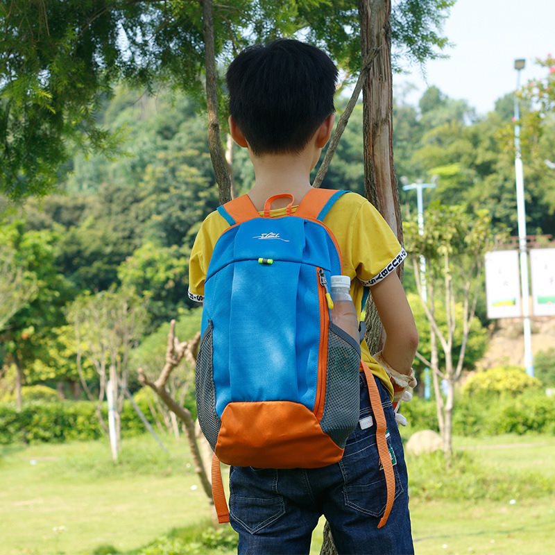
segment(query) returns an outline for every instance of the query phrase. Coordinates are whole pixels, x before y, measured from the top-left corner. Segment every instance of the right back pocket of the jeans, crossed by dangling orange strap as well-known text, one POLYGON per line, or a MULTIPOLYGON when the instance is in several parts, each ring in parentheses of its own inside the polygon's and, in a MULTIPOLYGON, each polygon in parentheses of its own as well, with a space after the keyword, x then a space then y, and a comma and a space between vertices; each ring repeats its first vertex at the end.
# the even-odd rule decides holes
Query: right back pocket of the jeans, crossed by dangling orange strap
MULTIPOLYGON (((379 461, 375 436, 373 439, 374 443, 364 445, 364 441, 358 441, 352 445, 355 449, 351 452, 345 451, 347 456, 339 461, 339 466, 343 474, 345 505, 365 515, 379 517, 386 508, 387 487, 384 470, 379 461)), ((371 436, 368 440, 371 441, 371 436)), ((397 464, 397 457, 402 456, 402 453, 395 452, 389 437, 387 445, 393 462, 396 499, 404 491, 397 464)))

